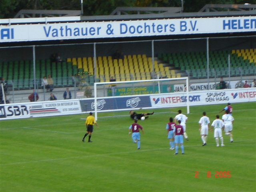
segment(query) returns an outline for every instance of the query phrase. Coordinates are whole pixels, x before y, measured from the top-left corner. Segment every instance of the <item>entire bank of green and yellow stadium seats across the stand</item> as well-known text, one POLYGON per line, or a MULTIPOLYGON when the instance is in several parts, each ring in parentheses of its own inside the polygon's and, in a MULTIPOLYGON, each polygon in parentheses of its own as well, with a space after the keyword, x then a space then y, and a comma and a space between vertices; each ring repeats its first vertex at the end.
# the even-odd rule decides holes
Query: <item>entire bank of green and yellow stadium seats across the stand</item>
MULTIPOLYGON (((256 74, 256 49, 210 51, 210 78, 228 76, 228 54, 231 76, 240 76, 241 73, 248 76, 256 74)), ((96 66, 96 82, 108 82, 111 76, 116 81, 152 78, 152 58, 146 54, 124 55, 123 59, 98 56, 96 66)), ((187 71, 191 78, 206 78, 206 52, 161 53, 154 59, 154 71, 160 78, 181 77, 180 70, 187 71)), ((36 79, 40 82, 44 76, 50 74, 54 80, 54 87, 72 86, 72 75, 83 73, 86 74, 84 80, 93 84, 93 57, 67 58, 62 62, 51 62, 50 59, 36 60, 36 79)), ((6 80, 14 82, 15 89, 28 89, 33 86, 32 60, 0 62, 0 76, 4 74, 7 74, 6 80)))

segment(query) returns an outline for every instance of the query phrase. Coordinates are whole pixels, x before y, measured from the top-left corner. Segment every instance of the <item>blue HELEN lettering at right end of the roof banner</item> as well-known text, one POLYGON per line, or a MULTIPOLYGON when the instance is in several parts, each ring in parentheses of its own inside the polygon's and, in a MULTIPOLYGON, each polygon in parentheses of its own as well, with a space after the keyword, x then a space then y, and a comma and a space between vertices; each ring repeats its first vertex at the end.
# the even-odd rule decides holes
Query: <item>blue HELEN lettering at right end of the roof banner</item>
POLYGON ((224 19, 223 30, 230 29, 256 29, 256 19, 224 19))

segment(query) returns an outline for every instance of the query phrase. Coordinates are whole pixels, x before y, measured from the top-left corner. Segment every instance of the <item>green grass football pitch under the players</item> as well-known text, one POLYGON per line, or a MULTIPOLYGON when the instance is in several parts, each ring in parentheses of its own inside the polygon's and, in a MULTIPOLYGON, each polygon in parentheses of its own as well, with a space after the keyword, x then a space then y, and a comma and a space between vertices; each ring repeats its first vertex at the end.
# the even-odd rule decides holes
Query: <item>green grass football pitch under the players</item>
POLYGON ((154 110, 150 118, 139 121, 145 130, 140 150, 128 136, 133 122, 128 116, 106 117, 127 111, 100 113, 92 143, 81 141, 85 132, 81 118, 87 114, 1 121, 0 191, 255 192, 255 102, 233 104, 233 143, 224 135, 226 146, 217 148, 209 132, 207 146, 201 146, 202 112, 212 123, 224 106, 190 108, 186 126, 190 141, 184 142, 185 154, 176 156, 169 150, 165 127, 178 108, 154 110), (216 171, 230 171, 231 177, 215 178, 216 171))

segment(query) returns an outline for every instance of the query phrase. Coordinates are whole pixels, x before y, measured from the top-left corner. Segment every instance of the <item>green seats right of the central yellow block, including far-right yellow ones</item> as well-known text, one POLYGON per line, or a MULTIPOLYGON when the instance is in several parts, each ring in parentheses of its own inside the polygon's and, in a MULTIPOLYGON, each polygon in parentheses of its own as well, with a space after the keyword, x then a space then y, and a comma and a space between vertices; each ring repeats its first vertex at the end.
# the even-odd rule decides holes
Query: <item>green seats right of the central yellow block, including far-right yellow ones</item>
MULTIPOLYGON (((210 77, 228 76, 228 54, 231 76, 256 74, 256 49, 241 49, 209 52, 210 77)), ((207 77, 206 52, 165 53, 158 57, 177 69, 186 70, 192 78, 207 77)))

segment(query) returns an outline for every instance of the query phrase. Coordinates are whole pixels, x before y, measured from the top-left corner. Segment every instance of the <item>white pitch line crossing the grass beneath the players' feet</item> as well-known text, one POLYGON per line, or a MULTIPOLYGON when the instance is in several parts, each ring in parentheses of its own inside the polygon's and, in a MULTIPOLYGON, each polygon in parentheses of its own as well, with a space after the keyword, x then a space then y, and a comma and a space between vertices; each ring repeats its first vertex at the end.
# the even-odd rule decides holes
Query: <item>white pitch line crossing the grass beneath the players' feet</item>
MULTIPOLYGON (((249 141, 249 140, 246 140, 249 141)), ((244 142, 243 141, 236 141, 236 142, 244 142)), ((215 145, 215 144, 208 144, 208 145, 215 145)), ((253 144, 242 144, 242 145, 235 145, 235 146, 252 146, 253 144)), ((202 145, 184 145, 184 148, 188 147, 198 147, 202 145)), ((229 147, 229 146, 228 146, 229 147)), ((60 161, 60 160, 68 160, 68 159, 78 159, 78 158, 90 158, 90 157, 98 157, 98 156, 108 156, 108 155, 118 155, 118 154, 129 154, 129 153, 137 153, 137 152, 148 152, 148 151, 156 151, 156 150, 168 150, 169 148, 156 148, 156 149, 147 149, 147 150, 134 150, 134 151, 127 151, 127 152, 116 152, 116 153, 107 153, 107 154, 96 154, 96 155, 87 155, 87 156, 76 156, 76 157, 67 157, 67 158, 56 158, 56 159, 45 159, 45 160, 37 160, 37 161, 25 161, 25 162, 16 162, 16 163, 8 163, 8 164, 1 164, 1 166, 8 166, 8 165, 18 165, 18 164, 27 164, 27 163, 38 163, 38 162, 51 162, 51 161, 60 161)))

